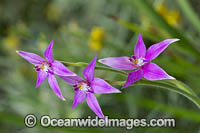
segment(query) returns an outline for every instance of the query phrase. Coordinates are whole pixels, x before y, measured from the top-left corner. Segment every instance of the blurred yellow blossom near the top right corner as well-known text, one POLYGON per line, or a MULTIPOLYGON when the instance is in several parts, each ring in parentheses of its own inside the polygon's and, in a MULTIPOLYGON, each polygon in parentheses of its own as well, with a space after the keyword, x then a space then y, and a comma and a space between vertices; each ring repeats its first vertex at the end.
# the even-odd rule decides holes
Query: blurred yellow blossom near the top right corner
POLYGON ((178 26, 180 24, 180 13, 178 10, 169 10, 164 3, 157 6, 156 10, 168 22, 168 24, 172 26, 178 26))

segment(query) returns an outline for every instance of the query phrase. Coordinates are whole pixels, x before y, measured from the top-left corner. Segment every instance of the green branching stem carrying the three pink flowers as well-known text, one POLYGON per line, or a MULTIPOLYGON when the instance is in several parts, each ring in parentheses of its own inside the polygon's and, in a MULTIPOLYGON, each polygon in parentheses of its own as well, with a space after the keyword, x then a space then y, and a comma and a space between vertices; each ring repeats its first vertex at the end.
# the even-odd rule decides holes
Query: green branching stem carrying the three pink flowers
MULTIPOLYGON (((61 61, 64 65, 66 66, 73 66, 73 67, 86 67, 88 63, 83 63, 83 62, 77 62, 77 63, 72 63, 72 62, 65 62, 61 61)), ((119 71, 116 69, 112 69, 109 67, 103 67, 103 66, 96 66, 95 69, 99 70, 106 70, 110 72, 116 72, 119 73, 123 76, 127 76, 128 73, 124 71, 119 71)), ((111 81, 111 80, 106 80, 108 83, 111 85, 124 85, 125 81, 111 81)), ((135 85, 144 85, 144 86, 152 86, 152 87, 158 87, 158 88, 163 88, 167 89, 176 93, 179 93, 186 98, 188 98, 190 101, 192 101, 199 109, 200 109, 200 99, 196 94, 193 92, 191 88, 183 84, 181 81, 178 80, 163 80, 163 81, 149 81, 149 80, 140 80, 135 82, 132 86, 135 85)))

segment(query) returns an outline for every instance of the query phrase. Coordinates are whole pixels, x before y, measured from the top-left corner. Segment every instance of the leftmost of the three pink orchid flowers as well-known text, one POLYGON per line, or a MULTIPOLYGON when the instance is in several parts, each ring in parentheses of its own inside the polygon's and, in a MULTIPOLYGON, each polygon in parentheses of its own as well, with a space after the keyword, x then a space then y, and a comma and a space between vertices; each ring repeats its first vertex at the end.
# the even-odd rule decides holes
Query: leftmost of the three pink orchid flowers
POLYGON ((54 93, 62 100, 65 98, 62 96, 60 88, 58 86, 55 75, 58 76, 75 76, 73 72, 68 70, 62 63, 57 60, 53 60, 52 48, 54 41, 52 40, 44 52, 44 57, 47 61, 40 57, 37 54, 25 52, 25 51, 16 51, 20 56, 25 60, 35 65, 35 70, 37 71, 37 82, 36 88, 48 77, 48 82, 54 93))

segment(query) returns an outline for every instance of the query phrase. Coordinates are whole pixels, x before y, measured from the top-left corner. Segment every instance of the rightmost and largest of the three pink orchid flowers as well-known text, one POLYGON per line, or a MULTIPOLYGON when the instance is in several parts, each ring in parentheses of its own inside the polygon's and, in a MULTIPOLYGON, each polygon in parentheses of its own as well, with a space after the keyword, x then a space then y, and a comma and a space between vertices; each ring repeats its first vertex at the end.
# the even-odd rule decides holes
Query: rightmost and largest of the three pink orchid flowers
POLYGON ((151 63, 153 59, 160 55, 171 43, 178 41, 179 39, 167 39, 162 42, 156 43, 149 47, 146 51, 146 46, 142 40, 142 35, 139 34, 137 44, 134 48, 134 56, 127 57, 109 57, 100 59, 99 62, 108 65, 110 67, 121 70, 135 71, 128 74, 126 83, 123 88, 126 88, 134 82, 144 77, 147 80, 163 80, 163 79, 175 79, 169 76, 162 68, 155 63, 151 63))

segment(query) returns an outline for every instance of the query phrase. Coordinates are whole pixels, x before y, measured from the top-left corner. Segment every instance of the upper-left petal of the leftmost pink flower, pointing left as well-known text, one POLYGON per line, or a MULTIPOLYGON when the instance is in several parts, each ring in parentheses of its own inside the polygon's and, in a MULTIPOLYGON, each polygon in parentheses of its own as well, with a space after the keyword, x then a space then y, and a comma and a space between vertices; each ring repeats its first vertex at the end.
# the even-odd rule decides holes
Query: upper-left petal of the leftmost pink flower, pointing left
POLYGON ((30 53, 30 52, 25 52, 25 51, 16 51, 21 57, 23 57, 25 60, 27 60, 28 62, 34 64, 34 65, 40 65, 43 62, 45 62, 45 60, 40 57, 39 55, 36 55, 34 53, 30 53))

